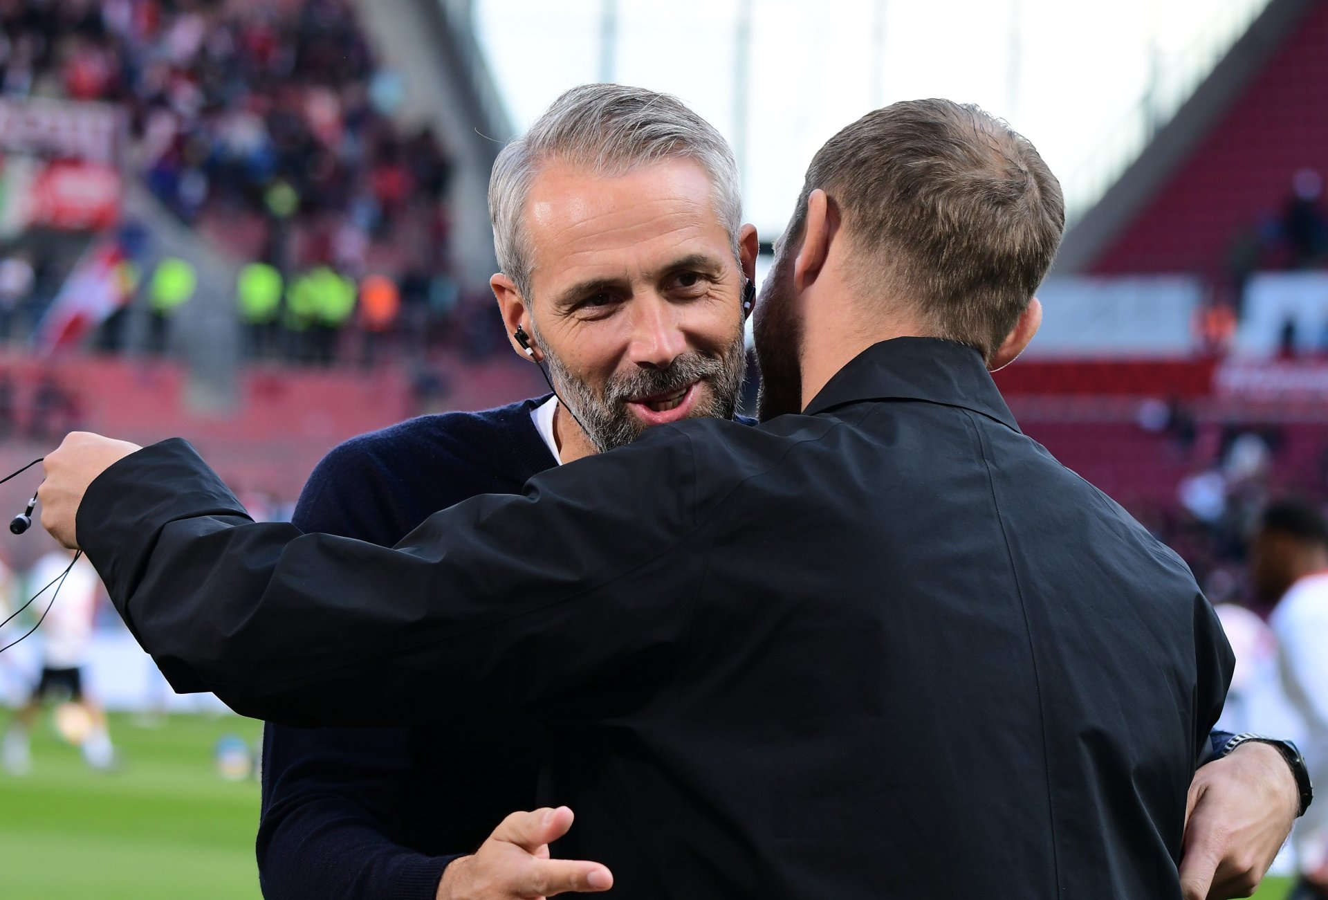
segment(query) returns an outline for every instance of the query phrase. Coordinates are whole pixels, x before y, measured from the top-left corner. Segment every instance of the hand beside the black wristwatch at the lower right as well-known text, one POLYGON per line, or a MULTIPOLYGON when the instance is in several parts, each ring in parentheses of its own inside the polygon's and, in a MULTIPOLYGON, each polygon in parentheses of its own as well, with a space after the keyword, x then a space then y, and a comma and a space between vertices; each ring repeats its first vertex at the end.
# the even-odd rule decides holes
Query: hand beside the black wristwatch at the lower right
POLYGON ((1242 745, 1201 767, 1186 806, 1185 900, 1254 893, 1291 834, 1299 806, 1287 761, 1266 743, 1242 745))

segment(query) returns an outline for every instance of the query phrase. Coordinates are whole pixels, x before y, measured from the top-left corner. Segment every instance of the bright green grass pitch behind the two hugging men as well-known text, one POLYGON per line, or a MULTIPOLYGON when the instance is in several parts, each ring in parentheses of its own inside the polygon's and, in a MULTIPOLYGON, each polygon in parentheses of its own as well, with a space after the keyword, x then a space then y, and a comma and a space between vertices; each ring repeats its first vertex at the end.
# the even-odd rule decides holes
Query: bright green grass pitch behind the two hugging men
MULTIPOLYGON (((40 726, 32 773, 0 773, 0 897, 258 897, 258 785, 223 781, 212 750, 226 734, 256 745, 260 727, 234 715, 177 715, 154 729, 113 717, 124 765, 101 774, 40 726)), ((1258 897, 1280 900, 1287 889, 1270 883, 1258 897)))

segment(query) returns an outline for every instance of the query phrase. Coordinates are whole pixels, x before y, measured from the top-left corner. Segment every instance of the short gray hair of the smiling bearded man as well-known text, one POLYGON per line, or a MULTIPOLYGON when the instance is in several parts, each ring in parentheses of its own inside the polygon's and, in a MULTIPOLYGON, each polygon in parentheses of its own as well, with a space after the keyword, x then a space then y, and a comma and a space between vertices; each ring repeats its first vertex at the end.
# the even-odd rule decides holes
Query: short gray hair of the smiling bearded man
POLYGON ((714 214, 734 258, 742 219, 737 162, 714 126, 680 100, 644 88, 580 85, 555 100, 525 137, 498 154, 489 178, 489 218, 498 267, 525 303, 531 300, 534 252, 525 228, 526 199, 539 167, 559 159, 616 177, 665 159, 695 159, 714 188, 714 214))

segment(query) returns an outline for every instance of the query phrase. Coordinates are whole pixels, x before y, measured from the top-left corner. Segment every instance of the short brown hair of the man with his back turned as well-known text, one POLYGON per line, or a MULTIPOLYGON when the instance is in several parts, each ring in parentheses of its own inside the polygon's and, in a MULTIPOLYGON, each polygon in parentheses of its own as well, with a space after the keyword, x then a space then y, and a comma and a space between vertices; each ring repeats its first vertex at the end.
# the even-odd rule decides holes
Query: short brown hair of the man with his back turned
POLYGON ((894 104, 830 138, 807 167, 791 236, 817 188, 871 260, 859 291, 911 285, 931 332, 988 357, 1041 284, 1065 227, 1061 186, 1028 138, 948 100, 894 104))

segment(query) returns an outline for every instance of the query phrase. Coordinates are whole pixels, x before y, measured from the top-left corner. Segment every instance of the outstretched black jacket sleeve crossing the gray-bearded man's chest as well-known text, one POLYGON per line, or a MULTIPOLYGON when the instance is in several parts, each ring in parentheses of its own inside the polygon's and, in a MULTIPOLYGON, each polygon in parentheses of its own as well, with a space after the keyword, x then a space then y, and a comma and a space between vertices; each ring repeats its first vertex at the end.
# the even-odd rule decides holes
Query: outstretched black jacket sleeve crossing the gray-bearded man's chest
MULTIPOLYGON (((396 548, 254 523, 185 441, 102 473, 77 532, 181 692, 303 725, 576 714, 685 633, 705 550, 685 434, 430 516, 396 548)), ((667 669, 667 665, 664 665, 667 669)), ((639 676, 644 677, 644 676, 639 676)))

